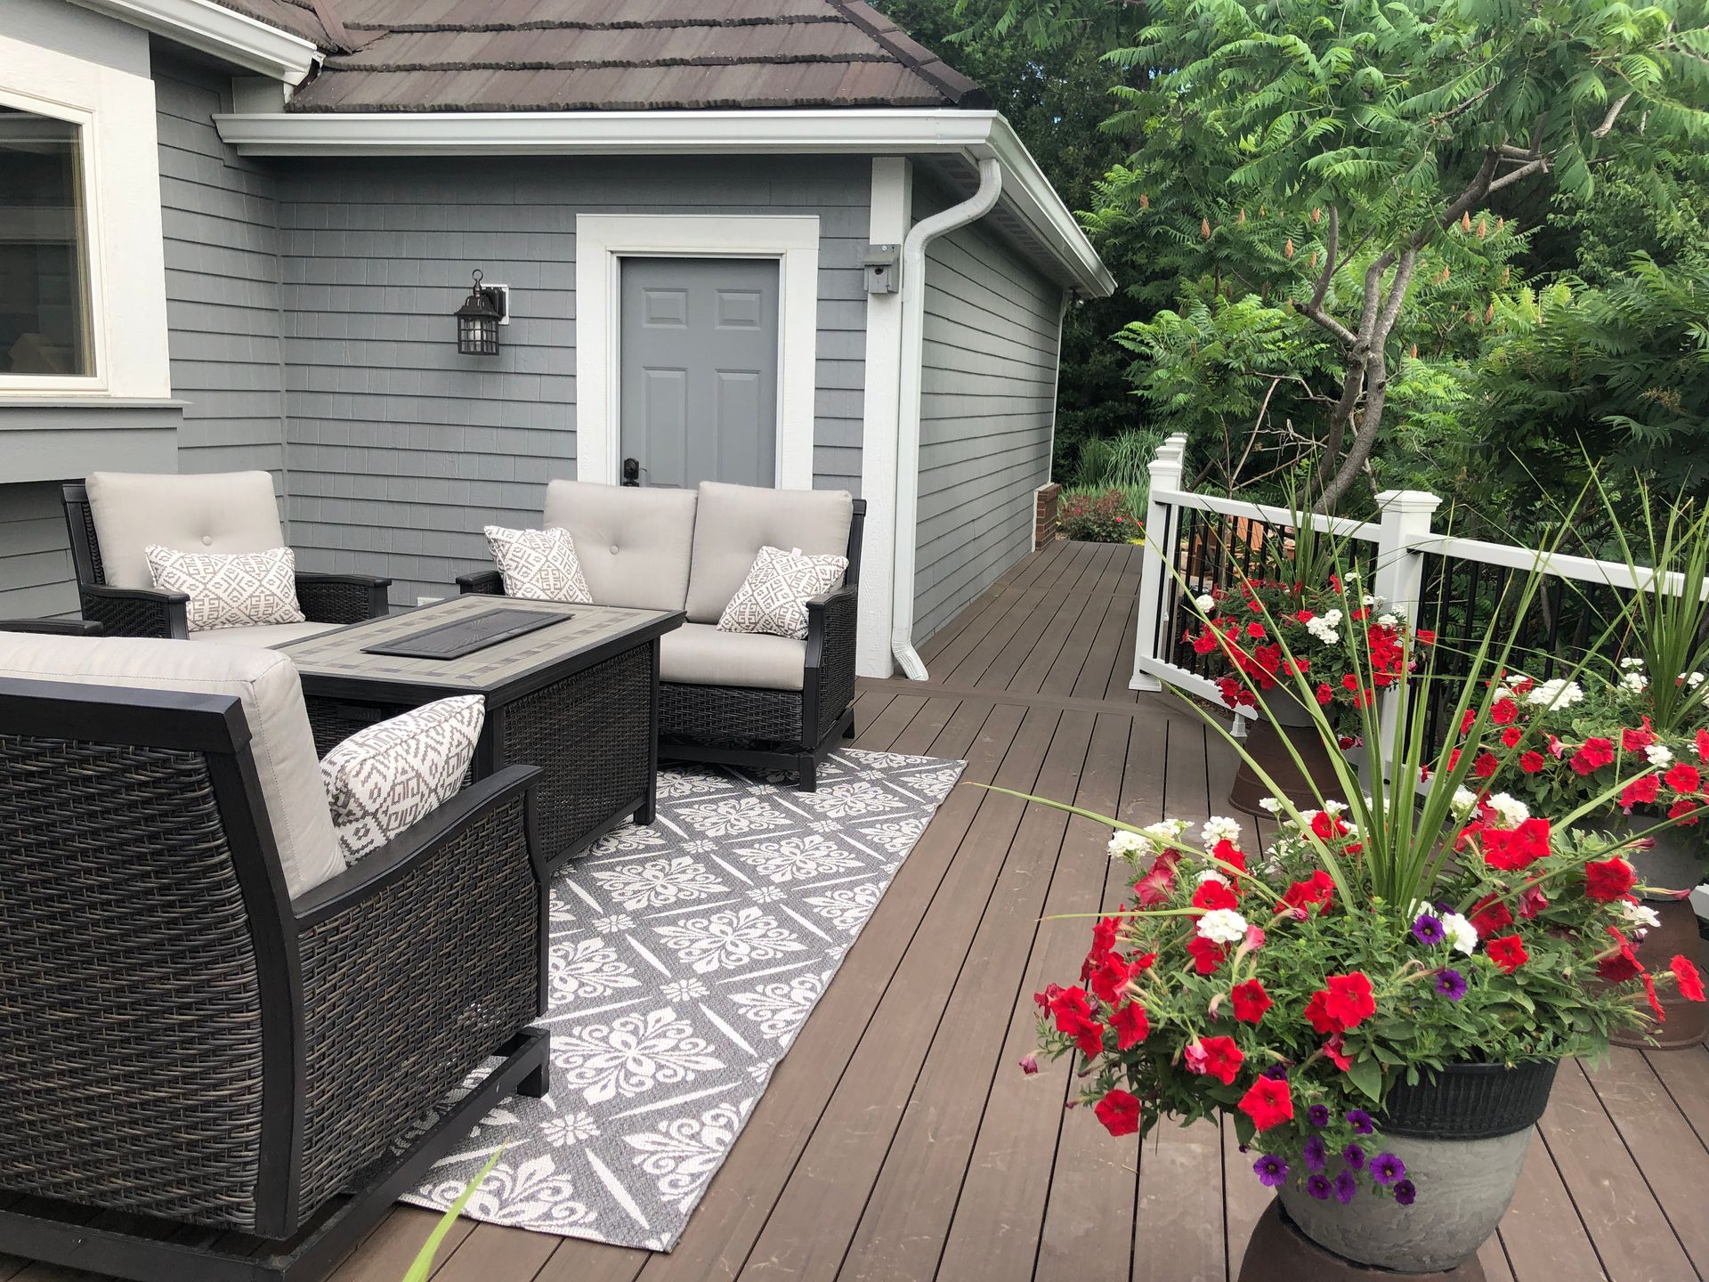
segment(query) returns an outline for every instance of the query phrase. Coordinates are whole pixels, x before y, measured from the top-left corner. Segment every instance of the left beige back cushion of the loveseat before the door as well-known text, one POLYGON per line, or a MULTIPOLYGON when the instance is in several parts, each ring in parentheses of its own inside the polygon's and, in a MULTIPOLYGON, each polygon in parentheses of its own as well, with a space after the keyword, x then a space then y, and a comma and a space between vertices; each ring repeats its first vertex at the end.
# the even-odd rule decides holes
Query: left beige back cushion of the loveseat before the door
POLYGON ((595 605, 680 610, 694 544, 692 489, 554 480, 545 523, 567 530, 595 605))

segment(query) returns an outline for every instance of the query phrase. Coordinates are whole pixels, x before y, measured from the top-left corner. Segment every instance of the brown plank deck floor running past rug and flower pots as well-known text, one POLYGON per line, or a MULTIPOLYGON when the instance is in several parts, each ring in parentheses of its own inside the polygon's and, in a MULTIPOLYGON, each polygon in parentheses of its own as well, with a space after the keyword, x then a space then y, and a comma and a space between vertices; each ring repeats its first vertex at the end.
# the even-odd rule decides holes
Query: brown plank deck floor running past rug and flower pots
MULTIPOLYGON (((1150 822, 1224 810, 1230 754, 1128 691, 1138 549, 1054 544, 925 648, 926 684, 861 682, 858 747, 1150 822)), ((1024 1077, 1031 995, 1072 976, 1123 885, 1107 832, 959 788, 907 856, 670 1255, 460 1222, 439 1282, 1196 1282, 1234 1279, 1268 1193, 1230 1130, 1113 1140, 1024 1077)), ((1420 1212, 1429 1214, 1420 1200, 1420 1212)), ((335 1273, 398 1282, 434 1215, 398 1208, 335 1273)), ((1565 1065, 1492 1282, 1709 1270, 1709 1051, 1565 1065)), ((87 1275, 0 1261, 10 1282, 87 1275)))

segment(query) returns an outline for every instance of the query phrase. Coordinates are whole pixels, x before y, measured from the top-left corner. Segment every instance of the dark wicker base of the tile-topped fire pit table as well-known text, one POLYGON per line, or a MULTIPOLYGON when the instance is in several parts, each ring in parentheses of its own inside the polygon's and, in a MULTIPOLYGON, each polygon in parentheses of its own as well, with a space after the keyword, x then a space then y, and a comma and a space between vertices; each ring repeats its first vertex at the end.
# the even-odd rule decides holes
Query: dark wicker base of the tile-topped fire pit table
MULTIPOLYGON (((540 844, 561 867, 629 815, 653 822, 658 699, 656 641, 644 641, 530 694, 489 697, 472 766, 485 778, 506 766, 538 766, 540 844)), ((415 704, 309 694, 314 750, 415 704)))

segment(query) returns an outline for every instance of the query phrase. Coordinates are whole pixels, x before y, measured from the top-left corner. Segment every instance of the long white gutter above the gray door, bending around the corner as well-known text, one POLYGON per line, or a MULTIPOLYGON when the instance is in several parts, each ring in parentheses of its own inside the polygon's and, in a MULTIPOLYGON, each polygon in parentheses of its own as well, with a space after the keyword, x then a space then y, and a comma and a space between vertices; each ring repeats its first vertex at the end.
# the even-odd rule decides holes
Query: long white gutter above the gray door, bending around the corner
MULTIPOLYGON (((77 0, 167 5, 202 0, 77 0)), ((256 24, 260 26, 260 24, 256 24)), ((1003 168, 1007 205, 1084 294, 1116 280, 1037 161, 996 111, 332 111, 214 118, 241 156, 964 156, 1003 168)))

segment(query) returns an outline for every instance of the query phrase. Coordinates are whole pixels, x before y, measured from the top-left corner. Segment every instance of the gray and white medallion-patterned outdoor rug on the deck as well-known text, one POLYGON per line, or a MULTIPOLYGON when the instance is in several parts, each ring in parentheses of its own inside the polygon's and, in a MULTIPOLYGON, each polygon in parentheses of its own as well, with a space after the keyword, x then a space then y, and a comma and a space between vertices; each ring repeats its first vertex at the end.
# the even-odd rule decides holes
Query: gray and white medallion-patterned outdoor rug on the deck
POLYGON ((793 776, 660 771, 658 817, 552 885, 552 1094, 509 1099, 405 1197, 668 1251, 964 762, 832 754, 793 776))

